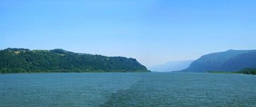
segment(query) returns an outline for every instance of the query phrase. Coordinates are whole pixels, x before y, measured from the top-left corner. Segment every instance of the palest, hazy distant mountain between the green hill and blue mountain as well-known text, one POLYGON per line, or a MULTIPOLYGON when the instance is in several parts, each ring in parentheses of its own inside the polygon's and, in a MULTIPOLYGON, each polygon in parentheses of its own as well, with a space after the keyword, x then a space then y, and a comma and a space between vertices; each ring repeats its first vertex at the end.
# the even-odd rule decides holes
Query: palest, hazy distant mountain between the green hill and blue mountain
POLYGON ((171 61, 160 65, 155 65, 152 67, 148 67, 150 71, 155 72, 172 72, 172 71, 180 71, 184 70, 185 68, 189 67, 189 65, 194 60, 177 60, 171 61))

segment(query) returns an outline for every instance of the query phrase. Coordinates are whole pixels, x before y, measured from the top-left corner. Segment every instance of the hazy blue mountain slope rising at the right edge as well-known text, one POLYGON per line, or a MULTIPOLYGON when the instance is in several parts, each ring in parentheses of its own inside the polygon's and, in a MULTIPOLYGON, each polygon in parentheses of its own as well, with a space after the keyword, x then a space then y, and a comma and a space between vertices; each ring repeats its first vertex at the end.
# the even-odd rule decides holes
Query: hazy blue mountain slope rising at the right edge
POLYGON ((256 68, 256 50, 228 50, 201 56, 182 72, 239 71, 256 68))

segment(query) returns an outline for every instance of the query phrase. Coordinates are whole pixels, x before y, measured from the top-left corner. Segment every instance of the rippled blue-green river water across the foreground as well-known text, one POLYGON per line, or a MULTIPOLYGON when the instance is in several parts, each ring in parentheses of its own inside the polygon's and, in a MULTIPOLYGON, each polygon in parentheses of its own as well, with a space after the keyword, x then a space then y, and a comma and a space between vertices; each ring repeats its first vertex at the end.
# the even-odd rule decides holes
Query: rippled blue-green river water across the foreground
POLYGON ((255 75, 210 73, 0 74, 0 106, 255 105, 255 75))

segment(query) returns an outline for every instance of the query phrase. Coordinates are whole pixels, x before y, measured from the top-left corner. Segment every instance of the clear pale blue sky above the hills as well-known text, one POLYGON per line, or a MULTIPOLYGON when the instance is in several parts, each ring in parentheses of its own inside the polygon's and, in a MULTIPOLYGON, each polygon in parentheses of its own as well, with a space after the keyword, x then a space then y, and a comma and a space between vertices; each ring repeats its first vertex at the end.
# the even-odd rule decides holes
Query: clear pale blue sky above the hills
POLYGON ((0 1, 0 49, 62 48, 152 66, 256 49, 255 0, 0 1))

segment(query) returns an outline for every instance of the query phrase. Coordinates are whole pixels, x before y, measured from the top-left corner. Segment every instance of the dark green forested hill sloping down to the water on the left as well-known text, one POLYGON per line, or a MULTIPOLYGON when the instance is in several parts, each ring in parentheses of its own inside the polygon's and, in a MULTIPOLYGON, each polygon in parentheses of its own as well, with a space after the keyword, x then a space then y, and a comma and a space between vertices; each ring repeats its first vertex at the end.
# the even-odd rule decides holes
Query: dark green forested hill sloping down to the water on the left
POLYGON ((63 49, 29 50, 7 48, 0 50, 0 73, 18 72, 150 72, 126 57, 107 57, 74 53, 63 49))

